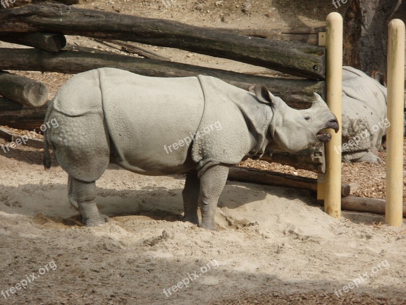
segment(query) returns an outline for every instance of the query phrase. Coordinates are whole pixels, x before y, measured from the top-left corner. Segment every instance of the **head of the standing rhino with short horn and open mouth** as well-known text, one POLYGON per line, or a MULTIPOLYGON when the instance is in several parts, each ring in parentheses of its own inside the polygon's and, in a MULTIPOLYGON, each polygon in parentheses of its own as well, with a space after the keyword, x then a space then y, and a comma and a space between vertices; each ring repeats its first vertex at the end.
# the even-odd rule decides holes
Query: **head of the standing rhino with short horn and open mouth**
POLYGON ((314 93, 315 100, 309 109, 296 110, 263 85, 250 87, 249 90, 260 102, 272 108, 267 150, 294 153, 316 146, 320 141, 330 141, 331 135, 323 132, 324 129, 332 128, 336 133, 339 131, 337 118, 317 93, 314 93))

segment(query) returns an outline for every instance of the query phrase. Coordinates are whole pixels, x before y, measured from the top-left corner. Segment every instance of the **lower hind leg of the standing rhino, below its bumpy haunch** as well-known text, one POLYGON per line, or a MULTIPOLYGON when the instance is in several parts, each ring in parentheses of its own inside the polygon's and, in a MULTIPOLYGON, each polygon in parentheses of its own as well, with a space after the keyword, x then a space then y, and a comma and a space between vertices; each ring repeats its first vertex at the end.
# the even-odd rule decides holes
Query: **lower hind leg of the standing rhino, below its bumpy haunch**
POLYGON ((100 215, 96 206, 96 182, 83 182, 69 177, 67 194, 70 203, 77 206, 82 223, 88 227, 104 224, 107 217, 100 215))

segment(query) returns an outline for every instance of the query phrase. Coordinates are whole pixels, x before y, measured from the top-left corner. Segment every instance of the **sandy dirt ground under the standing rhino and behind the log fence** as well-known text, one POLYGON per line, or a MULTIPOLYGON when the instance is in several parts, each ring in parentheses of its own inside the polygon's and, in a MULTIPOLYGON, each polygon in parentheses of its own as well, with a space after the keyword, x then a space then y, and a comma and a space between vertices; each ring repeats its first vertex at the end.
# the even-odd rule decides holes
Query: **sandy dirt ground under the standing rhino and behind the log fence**
MULTIPOLYGON (((304 0, 165 4, 78 6, 232 28, 320 26, 335 10, 329 1, 304 0)), ((86 38, 68 40, 106 48, 86 38)), ((146 48, 176 62, 268 73, 146 48)), ((44 81, 50 98, 70 78, 17 73, 44 81)), ((332 219, 308 191, 228 181, 217 207, 219 230, 207 231, 179 221, 184 175, 142 176, 110 165, 97 181, 98 206, 110 222, 86 228, 67 201, 66 173, 54 159, 44 171, 42 155, 30 147, 0 150, 0 304, 406 304, 406 223, 393 228, 381 224, 382 216, 354 212, 332 219)), ((385 162, 385 153, 381 157, 385 162)), ((384 168, 343 164, 343 179, 361 185, 357 195, 382 197, 384 168)))

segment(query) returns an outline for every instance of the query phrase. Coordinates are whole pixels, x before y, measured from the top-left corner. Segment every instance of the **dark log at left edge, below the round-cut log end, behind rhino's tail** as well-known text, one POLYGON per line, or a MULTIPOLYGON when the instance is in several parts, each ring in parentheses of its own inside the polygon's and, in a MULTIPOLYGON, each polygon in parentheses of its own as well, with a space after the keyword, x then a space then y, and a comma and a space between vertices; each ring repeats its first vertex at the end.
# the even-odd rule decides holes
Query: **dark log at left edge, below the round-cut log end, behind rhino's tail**
POLYGON ((0 97, 0 125, 38 131, 44 124, 47 108, 47 104, 32 108, 0 97))

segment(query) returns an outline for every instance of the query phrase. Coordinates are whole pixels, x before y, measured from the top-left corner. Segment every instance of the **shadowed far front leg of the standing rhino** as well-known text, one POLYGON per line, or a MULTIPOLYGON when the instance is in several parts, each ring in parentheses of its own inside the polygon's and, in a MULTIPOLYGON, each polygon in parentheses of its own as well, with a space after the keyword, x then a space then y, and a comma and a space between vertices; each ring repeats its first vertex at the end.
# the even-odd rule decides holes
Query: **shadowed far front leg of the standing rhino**
POLYGON ((182 192, 183 207, 185 216, 182 221, 189 221, 193 224, 199 225, 199 218, 197 217, 197 205, 200 192, 200 180, 197 177, 196 171, 189 171, 186 173, 185 188, 182 192))

